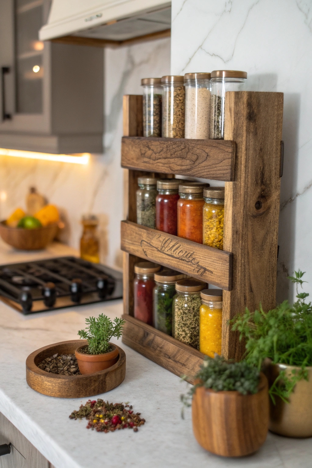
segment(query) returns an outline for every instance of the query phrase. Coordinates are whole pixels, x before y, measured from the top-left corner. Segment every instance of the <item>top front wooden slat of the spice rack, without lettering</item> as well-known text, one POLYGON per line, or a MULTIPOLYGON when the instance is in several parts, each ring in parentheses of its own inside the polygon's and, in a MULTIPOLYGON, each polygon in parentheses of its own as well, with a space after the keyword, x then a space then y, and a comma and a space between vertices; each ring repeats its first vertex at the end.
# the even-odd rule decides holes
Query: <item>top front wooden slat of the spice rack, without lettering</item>
MULTIPOLYGON (((130 114, 127 112, 127 99, 124 101, 125 121, 130 114)), ((133 136, 134 132, 127 135, 125 131, 123 134, 121 165, 124 168, 223 181, 234 179, 234 141, 140 138, 133 136), (125 138, 128 136, 131 138, 125 138)))

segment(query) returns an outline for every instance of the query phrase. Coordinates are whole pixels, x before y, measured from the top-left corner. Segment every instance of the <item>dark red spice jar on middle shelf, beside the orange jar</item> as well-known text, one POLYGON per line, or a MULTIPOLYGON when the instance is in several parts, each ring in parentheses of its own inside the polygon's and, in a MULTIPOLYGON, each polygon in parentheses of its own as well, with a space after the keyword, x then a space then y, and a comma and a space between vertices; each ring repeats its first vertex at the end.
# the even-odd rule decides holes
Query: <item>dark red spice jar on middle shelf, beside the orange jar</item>
POLYGON ((177 235, 179 200, 179 179, 160 179, 157 181, 156 229, 168 234, 177 235))

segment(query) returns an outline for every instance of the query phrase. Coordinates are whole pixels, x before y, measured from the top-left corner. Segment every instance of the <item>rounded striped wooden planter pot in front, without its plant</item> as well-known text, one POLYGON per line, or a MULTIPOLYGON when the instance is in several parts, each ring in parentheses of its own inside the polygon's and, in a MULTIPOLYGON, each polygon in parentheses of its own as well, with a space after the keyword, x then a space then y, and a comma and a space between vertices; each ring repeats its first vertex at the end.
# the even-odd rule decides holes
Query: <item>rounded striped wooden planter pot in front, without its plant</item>
POLYGON ((242 395, 198 387, 192 402, 193 431, 206 450, 240 457, 258 450, 268 433, 268 380, 260 374, 259 391, 242 395))

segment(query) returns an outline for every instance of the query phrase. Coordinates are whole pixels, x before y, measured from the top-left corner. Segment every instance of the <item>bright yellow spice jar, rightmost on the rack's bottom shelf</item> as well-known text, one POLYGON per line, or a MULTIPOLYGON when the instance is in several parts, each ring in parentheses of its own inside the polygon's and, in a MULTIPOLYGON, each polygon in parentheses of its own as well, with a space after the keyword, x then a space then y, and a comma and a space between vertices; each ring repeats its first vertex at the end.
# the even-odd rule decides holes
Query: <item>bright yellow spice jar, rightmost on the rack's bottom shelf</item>
POLYGON ((214 358, 221 355, 222 289, 203 289, 199 309, 199 351, 214 358))

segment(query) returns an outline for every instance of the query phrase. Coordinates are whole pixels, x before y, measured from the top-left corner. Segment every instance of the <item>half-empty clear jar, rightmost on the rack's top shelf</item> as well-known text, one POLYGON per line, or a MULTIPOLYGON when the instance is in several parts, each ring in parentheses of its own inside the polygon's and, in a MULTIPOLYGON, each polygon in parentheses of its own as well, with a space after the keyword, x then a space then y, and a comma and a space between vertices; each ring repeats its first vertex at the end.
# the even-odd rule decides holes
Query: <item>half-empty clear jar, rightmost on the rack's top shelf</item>
POLYGON ((224 102, 226 91, 241 91, 246 72, 215 70, 211 72, 210 138, 224 139, 224 102))

